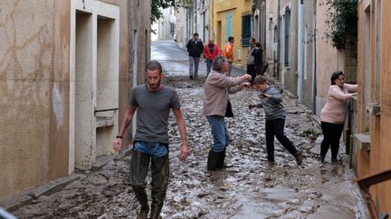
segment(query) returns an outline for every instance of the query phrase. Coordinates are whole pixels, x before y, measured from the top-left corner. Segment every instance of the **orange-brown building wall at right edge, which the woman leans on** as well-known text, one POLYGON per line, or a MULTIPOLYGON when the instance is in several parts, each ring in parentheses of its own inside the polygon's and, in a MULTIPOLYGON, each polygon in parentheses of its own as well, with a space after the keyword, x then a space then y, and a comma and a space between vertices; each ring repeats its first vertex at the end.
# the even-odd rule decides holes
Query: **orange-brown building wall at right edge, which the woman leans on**
MULTIPOLYGON (((358 3, 358 120, 357 132, 369 132, 370 151, 358 151, 358 177, 391 169, 391 10, 390 1, 358 3), (367 104, 380 103, 380 115, 367 113, 367 104), (369 122, 367 121, 367 117, 369 122)), ((391 213, 391 180, 370 188, 378 214, 391 213)))

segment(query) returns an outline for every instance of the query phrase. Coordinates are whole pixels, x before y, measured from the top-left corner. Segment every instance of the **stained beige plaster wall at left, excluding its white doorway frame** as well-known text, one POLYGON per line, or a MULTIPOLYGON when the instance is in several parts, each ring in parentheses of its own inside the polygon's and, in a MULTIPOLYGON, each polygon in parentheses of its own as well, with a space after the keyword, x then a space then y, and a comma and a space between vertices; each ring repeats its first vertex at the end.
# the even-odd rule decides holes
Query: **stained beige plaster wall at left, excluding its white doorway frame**
MULTIPOLYGON (((150 0, 102 2, 120 9, 121 119, 134 72, 136 84, 145 81, 150 0), (133 45, 135 30, 137 47, 133 45), (134 68, 136 53, 138 68, 134 68)), ((71 0, 0 2, 0 200, 73 171, 69 163, 70 14, 71 0)))

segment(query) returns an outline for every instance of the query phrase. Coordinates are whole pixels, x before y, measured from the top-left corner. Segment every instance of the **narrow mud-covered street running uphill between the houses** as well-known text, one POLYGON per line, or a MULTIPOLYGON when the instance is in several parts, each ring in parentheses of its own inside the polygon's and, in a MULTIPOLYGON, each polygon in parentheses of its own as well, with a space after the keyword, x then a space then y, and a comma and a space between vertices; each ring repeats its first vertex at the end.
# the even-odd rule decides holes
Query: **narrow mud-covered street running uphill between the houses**
MULTIPOLYGON (((278 141, 275 165, 268 164, 264 115, 262 109, 248 109, 257 98, 249 88, 231 96, 235 116, 227 119, 233 141, 226 161, 233 167, 206 171, 212 137, 202 114, 205 62, 200 62, 199 78, 190 80, 186 50, 175 41, 154 41, 151 51, 151 59, 163 64, 164 84, 176 87, 181 98, 190 146, 189 158, 180 161, 179 133, 171 114, 171 176, 163 218, 368 218, 366 203, 352 183, 355 176, 344 147, 339 149, 338 163, 331 163, 329 157, 319 163, 319 142, 305 134, 319 133, 319 124, 288 92, 283 92, 282 103, 288 114, 285 132, 303 151, 300 167, 278 141)), ((233 76, 241 74, 243 69, 233 69, 233 76)), ((79 172, 80 179, 52 195, 39 196, 13 214, 18 218, 135 218, 139 206, 127 184, 129 159, 117 158, 100 170, 79 172)))

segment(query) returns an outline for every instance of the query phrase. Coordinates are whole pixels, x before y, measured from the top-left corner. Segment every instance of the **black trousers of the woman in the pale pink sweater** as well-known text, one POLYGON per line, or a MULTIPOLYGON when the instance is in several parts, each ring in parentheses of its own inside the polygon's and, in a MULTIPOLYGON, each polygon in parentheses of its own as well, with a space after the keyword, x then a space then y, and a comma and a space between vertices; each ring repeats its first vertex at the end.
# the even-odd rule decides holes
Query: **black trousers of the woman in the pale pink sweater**
POLYGON ((331 145, 331 160, 337 160, 339 152, 339 139, 344 124, 321 122, 323 141, 320 144, 320 158, 323 161, 331 145))

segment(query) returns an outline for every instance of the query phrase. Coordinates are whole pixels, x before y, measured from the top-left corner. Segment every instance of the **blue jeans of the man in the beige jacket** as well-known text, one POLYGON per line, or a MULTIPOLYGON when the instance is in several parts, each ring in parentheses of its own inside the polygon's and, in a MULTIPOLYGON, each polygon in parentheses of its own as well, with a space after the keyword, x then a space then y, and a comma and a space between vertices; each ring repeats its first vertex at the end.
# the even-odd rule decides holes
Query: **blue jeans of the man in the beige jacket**
POLYGON ((207 115, 206 119, 211 127, 214 144, 211 151, 222 152, 230 143, 228 129, 226 127, 224 116, 207 115))

